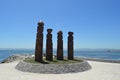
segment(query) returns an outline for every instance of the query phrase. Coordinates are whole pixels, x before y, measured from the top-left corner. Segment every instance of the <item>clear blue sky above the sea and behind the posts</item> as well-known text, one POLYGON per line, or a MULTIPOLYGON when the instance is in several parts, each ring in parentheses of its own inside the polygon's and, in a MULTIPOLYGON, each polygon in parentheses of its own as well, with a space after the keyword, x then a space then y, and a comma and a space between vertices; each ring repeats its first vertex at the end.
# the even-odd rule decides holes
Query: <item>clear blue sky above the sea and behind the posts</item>
POLYGON ((74 32, 79 48, 120 49, 120 0, 0 0, 0 48, 34 48, 37 22, 46 29, 63 31, 64 48, 68 31, 74 32))

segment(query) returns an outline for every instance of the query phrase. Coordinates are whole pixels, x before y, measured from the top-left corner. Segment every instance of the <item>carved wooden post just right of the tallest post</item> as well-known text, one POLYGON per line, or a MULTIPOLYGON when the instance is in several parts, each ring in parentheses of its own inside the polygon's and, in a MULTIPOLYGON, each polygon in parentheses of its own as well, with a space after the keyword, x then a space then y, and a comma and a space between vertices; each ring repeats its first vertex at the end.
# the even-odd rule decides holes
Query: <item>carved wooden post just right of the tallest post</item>
POLYGON ((52 29, 47 29, 47 39, 46 39, 46 60, 53 60, 53 43, 52 43, 52 29))

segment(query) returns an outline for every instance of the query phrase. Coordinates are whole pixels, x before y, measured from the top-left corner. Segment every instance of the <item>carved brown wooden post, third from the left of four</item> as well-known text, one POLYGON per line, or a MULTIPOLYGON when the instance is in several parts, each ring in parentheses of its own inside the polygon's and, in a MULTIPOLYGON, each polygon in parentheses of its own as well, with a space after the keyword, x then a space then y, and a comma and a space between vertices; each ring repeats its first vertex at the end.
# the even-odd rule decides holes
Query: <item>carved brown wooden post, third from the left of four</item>
POLYGON ((57 60, 63 60, 63 33, 59 31, 57 34, 57 60))

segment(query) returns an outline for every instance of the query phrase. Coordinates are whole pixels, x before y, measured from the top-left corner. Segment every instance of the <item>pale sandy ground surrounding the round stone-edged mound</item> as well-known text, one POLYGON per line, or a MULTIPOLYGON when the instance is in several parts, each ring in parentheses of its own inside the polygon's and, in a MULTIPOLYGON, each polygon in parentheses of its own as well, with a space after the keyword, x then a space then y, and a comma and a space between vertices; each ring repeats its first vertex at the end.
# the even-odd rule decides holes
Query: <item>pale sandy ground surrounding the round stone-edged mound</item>
POLYGON ((79 73, 38 74, 15 69, 18 62, 0 64, 0 80, 120 80, 120 64, 88 61, 92 69, 79 73))

